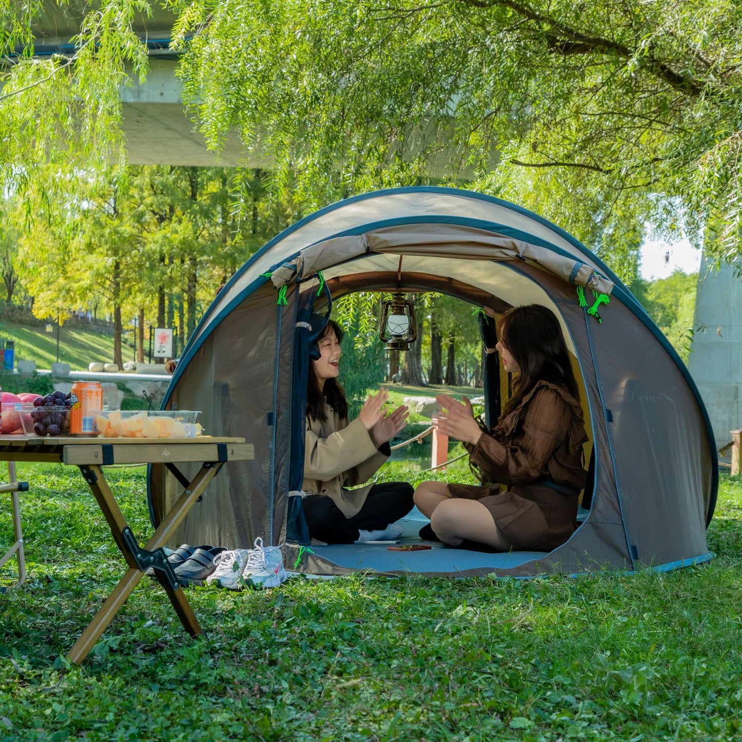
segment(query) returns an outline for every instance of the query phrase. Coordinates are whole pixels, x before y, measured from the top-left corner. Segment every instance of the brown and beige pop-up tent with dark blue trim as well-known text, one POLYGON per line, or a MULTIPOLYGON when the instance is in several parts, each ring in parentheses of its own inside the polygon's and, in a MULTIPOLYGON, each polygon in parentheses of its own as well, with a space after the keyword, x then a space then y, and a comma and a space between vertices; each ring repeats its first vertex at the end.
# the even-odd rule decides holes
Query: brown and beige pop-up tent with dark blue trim
MULTIPOLYGON (((251 548, 262 536, 286 543, 286 563, 294 564, 307 543, 300 491, 306 368, 322 324, 312 315, 326 311, 326 296, 361 290, 441 292, 495 317, 526 303, 555 312, 574 354, 591 439, 585 517, 548 554, 443 548, 401 557, 384 546, 324 546, 304 551, 298 569, 531 576, 710 558, 718 462, 680 358, 574 237, 513 204, 451 188, 377 191, 328 206, 271 240, 226 284, 188 341, 164 406, 202 410, 207 433, 243 436, 255 460, 223 468, 177 543, 251 548), (597 303, 601 294, 610 303, 597 303)), ((148 485, 159 522, 179 485, 165 467, 151 469, 148 485)))

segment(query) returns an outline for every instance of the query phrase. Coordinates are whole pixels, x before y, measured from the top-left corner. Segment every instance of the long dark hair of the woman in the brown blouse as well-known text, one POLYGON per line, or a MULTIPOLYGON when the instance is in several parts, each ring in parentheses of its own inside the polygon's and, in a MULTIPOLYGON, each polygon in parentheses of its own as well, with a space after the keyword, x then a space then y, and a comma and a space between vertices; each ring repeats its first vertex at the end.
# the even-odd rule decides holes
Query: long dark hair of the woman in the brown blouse
POLYGON ((514 306, 500 318, 497 334, 520 367, 513 385, 515 393, 505 404, 502 417, 518 407, 537 381, 559 384, 580 399, 562 327, 551 309, 541 304, 514 306))

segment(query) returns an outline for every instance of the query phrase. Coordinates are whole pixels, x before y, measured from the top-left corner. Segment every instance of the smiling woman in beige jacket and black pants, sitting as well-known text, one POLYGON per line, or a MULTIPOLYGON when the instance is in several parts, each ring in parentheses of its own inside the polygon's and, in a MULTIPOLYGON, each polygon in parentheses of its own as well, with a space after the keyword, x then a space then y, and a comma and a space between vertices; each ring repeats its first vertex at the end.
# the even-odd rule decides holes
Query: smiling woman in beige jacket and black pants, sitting
POLYGON ((395 520, 413 508, 407 482, 361 485, 390 456, 389 441, 407 424, 407 407, 387 415, 388 393, 370 396, 361 413, 348 420, 348 404, 338 383, 343 330, 328 321, 318 338, 319 358, 309 361, 306 448, 302 490, 304 515, 313 539, 349 544, 401 535, 395 520))

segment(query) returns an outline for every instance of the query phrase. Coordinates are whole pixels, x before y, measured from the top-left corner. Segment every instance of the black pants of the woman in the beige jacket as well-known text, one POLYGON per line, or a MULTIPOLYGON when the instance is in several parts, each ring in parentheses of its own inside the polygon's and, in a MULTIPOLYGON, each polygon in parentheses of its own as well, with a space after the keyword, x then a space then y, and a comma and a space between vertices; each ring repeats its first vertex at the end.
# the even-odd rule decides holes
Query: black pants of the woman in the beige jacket
POLYGON ((373 485, 360 512, 347 518, 332 497, 307 495, 302 503, 309 536, 328 544, 352 544, 358 529, 375 531, 387 528, 413 509, 413 489, 407 482, 373 485))

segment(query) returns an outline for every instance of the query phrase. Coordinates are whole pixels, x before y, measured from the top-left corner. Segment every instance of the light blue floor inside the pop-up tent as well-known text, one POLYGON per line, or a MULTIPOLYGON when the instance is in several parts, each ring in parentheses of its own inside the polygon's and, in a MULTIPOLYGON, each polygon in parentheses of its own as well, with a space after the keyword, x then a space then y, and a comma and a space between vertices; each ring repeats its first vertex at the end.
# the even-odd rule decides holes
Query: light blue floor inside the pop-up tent
POLYGON ((338 567, 375 572, 414 572, 416 574, 456 574, 473 569, 496 570, 518 567, 548 557, 548 551, 510 551, 486 554, 482 551, 456 549, 445 544, 422 541, 418 531, 430 521, 417 508, 399 521, 404 526, 397 543, 368 542, 312 546, 316 557, 338 567), (389 551, 390 546, 424 544, 424 551, 389 551))

